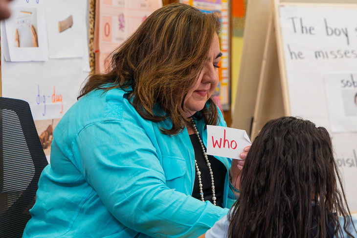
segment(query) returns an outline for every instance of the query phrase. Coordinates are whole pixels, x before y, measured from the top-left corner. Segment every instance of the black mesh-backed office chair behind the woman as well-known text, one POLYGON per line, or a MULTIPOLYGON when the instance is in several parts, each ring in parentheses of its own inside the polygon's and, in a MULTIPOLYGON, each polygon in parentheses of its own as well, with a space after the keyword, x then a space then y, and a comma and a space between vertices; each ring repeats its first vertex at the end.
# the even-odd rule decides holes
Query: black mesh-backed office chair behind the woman
POLYGON ((47 165, 30 106, 0 98, 0 238, 21 238, 47 165))

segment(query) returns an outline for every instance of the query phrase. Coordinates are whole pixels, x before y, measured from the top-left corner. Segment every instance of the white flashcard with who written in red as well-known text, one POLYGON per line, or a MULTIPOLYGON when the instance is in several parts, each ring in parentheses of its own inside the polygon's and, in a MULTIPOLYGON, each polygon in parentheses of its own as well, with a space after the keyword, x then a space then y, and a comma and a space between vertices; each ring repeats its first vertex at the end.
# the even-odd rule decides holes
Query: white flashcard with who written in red
POLYGON ((207 155, 241 159, 239 155, 248 145, 245 130, 207 125, 207 155))

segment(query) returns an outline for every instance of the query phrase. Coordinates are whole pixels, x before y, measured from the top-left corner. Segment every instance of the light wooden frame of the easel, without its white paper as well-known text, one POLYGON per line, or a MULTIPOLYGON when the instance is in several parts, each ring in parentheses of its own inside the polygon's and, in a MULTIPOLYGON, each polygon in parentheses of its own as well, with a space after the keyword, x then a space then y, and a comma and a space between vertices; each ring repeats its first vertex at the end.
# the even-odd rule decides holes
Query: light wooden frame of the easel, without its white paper
POLYGON ((357 3, 356 0, 251 0, 248 3, 241 72, 232 127, 253 140, 270 119, 290 116, 279 5, 357 3), (265 40, 264 40, 265 39, 265 40), (257 68, 261 65, 261 69, 257 68))

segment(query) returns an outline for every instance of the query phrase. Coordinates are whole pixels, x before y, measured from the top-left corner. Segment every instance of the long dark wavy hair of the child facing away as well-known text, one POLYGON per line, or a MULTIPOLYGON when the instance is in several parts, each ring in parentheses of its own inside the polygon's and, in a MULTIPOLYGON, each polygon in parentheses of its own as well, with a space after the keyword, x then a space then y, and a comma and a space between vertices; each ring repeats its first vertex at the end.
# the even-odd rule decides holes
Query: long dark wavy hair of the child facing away
POLYGON ((294 117, 268 121, 250 148, 240 184, 228 238, 326 238, 341 236, 342 229, 352 236, 324 127, 294 117), (344 225, 337 215, 345 216, 344 225))

